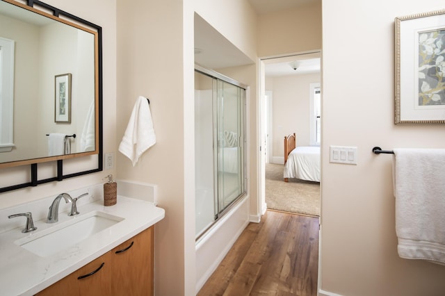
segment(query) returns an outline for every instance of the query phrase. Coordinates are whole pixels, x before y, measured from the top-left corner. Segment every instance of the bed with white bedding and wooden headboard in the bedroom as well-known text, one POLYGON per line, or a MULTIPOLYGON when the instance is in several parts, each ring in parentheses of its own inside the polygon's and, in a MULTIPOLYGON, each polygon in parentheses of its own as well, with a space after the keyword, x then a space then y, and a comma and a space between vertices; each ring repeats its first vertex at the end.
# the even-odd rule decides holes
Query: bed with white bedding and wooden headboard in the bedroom
POLYGON ((320 147, 296 146, 296 135, 284 137, 284 182, 289 178, 320 182, 320 147))

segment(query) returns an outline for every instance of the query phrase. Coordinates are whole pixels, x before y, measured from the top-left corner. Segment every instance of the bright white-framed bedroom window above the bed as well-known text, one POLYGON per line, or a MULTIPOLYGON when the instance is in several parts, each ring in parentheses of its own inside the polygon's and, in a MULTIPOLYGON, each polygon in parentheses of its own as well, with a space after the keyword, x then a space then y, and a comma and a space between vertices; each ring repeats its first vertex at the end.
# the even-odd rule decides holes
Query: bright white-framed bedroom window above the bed
POLYGON ((310 142, 319 146, 321 142, 321 88, 320 83, 311 83, 310 89, 310 142))

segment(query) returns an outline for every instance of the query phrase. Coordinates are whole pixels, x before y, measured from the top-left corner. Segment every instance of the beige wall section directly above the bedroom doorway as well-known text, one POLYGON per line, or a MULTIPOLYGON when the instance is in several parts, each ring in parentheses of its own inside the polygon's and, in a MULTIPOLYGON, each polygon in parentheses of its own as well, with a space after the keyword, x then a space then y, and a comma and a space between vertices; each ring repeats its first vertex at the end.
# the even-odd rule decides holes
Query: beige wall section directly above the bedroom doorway
POLYGON ((321 0, 316 0, 295 10, 260 15, 258 56, 279 56, 321 49, 320 12, 321 0))

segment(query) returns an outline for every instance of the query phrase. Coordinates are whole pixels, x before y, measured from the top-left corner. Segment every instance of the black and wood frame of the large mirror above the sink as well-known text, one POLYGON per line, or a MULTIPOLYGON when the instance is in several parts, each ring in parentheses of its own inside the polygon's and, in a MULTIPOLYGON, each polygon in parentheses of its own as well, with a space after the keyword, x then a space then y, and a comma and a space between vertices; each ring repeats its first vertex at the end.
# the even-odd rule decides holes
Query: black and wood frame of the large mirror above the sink
MULTIPOLYGON (((19 188, 26 188, 29 186, 38 186, 41 183, 49 183, 51 181, 62 181, 63 179, 71 178, 74 176, 81 176, 83 174, 91 174, 94 172, 100 172, 103 170, 103 139, 102 139, 102 96, 103 96, 103 85, 102 85, 102 27, 92 24, 84 19, 76 17, 70 13, 63 10, 50 6, 47 3, 43 3, 38 0, 26 0, 26 4, 20 3, 15 0, 0 0, 6 3, 10 3, 14 6, 30 10, 33 13, 42 15, 44 17, 49 17, 56 20, 57 22, 62 22, 76 28, 80 28, 83 31, 92 31, 95 35, 95 110, 97 110, 95 117, 95 124, 97 126, 95 133, 95 151, 81 152, 77 154, 66 154, 60 156, 50 156, 43 158, 34 158, 24 161, 13 161, 10 163, 1 163, 0 170, 3 168, 25 166, 30 170, 30 180, 26 183, 19 183, 16 185, 6 186, 0 188, 0 192, 7 192, 10 190, 17 190, 19 188), (35 8, 39 7, 38 8, 35 8), (45 11, 50 11, 52 13, 46 13, 45 11), (61 18, 63 17, 63 18, 61 18), (80 25, 79 25, 80 24, 80 25), (82 156, 90 156, 97 154, 97 167, 92 170, 84 170, 81 172, 74 172, 71 174, 63 174, 63 161, 65 159, 77 158, 82 156), (48 163, 56 162, 57 172, 56 176, 47 179, 38 179, 38 163, 48 163)), ((24 167, 24 172, 25 167, 24 167)))

